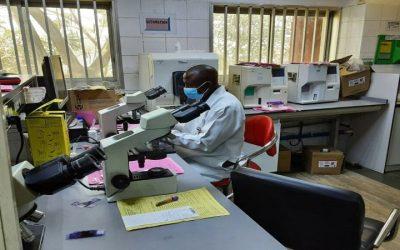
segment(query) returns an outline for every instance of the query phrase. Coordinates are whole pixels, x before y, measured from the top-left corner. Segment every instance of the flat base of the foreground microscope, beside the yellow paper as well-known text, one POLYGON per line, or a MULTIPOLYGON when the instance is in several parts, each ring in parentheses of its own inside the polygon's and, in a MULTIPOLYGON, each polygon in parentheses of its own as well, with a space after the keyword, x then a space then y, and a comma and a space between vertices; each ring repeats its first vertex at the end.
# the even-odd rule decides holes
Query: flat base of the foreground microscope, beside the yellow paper
POLYGON ((108 202, 125 200, 130 198, 147 197, 162 194, 171 194, 178 191, 177 175, 157 179, 132 181, 130 185, 121 192, 108 197, 108 202))

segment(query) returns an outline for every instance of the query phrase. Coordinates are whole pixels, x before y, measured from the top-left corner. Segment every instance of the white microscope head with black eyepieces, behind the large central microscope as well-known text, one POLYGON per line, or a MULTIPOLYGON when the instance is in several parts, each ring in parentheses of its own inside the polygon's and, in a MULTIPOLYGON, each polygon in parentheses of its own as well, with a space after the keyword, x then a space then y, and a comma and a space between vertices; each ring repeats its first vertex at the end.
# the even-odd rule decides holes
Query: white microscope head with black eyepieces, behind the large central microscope
MULTIPOLYGON (((100 134, 102 138, 106 138, 108 136, 112 136, 117 134, 117 118, 122 114, 126 114, 132 111, 132 120, 137 120, 136 111, 143 108, 146 104, 146 100, 153 100, 157 97, 167 93, 167 91, 163 87, 156 87, 147 90, 146 92, 138 91, 133 94, 126 94, 124 96, 124 101, 99 110, 99 122, 100 122, 100 134)), ((127 129, 128 123, 123 121, 124 130, 127 129)))

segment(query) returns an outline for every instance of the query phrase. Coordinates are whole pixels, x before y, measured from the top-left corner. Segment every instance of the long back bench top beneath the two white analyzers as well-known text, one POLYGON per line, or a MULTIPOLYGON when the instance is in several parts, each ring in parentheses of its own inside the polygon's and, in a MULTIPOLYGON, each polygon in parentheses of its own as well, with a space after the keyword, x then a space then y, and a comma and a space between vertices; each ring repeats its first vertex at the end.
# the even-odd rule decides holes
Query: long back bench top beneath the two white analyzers
POLYGON ((290 120, 310 117, 340 116, 345 114, 356 114, 372 112, 383 109, 387 100, 364 97, 359 100, 343 100, 338 102, 316 103, 316 104, 294 104, 289 103, 296 112, 267 113, 253 109, 246 109, 247 116, 266 114, 272 119, 290 120))

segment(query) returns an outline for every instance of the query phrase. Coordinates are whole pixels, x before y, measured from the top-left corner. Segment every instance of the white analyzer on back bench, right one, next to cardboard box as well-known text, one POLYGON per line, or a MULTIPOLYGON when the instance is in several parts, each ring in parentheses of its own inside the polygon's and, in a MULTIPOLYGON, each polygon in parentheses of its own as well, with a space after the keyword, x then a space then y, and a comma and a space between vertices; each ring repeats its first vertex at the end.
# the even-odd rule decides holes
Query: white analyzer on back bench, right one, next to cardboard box
POLYGON ((299 63, 285 67, 289 102, 308 104, 339 100, 339 64, 299 63))

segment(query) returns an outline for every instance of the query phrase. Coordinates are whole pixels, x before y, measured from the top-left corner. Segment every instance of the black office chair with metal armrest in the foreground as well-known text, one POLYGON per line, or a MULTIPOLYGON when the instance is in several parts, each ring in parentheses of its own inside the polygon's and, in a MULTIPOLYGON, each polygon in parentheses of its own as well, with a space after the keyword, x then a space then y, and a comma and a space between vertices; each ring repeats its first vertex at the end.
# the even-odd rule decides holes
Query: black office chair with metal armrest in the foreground
POLYGON ((235 204, 288 248, 373 249, 396 235, 399 211, 365 218, 355 192, 245 168, 231 180, 235 204))

